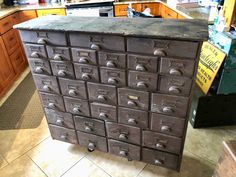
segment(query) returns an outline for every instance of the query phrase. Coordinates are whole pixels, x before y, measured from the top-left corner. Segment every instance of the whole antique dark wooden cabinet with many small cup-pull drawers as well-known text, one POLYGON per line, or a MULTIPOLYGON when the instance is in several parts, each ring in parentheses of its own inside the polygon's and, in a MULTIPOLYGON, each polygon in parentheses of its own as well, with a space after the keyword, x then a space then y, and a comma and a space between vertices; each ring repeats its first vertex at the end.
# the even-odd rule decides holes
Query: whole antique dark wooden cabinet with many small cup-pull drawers
POLYGON ((179 170, 206 22, 42 17, 16 28, 54 139, 179 170))

